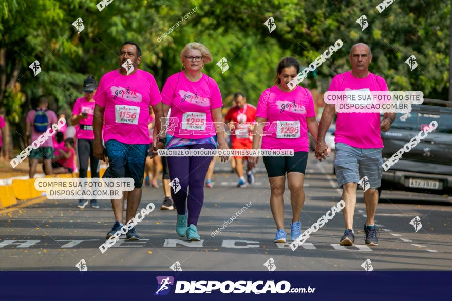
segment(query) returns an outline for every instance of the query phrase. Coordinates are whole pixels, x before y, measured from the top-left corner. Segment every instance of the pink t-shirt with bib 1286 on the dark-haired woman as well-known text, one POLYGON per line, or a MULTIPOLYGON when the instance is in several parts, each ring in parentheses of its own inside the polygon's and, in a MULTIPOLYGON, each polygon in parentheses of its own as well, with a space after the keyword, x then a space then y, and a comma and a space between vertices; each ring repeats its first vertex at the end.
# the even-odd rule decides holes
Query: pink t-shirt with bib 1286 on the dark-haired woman
POLYGON ((262 92, 257 117, 267 118, 263 128, 262 149, 293 149, 308 152, 308 124, 314 117, 314 100, 308 89, 297 86, 290 92, 273 86, 262 92))

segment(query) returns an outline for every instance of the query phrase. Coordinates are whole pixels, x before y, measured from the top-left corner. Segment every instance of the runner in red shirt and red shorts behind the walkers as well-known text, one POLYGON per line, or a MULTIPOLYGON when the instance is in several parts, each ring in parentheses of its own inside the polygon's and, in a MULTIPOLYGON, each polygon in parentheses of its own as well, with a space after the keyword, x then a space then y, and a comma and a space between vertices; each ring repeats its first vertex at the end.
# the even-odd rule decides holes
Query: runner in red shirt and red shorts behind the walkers
MULTIPOLYGON (((232 149, 251 149, 253 145, 253 126, 256 120, 256 107, 247 103, 247 97, 241 92, 234 94, 235 106, 224 116, 226 127, 231 130, 232 149)), ((243 157, 234 156, 235 170, 239 177, 238 187, 246 187, 243 177, 243 157)), ((244 157, 248 161, 248 157, 244 157)), ((251 165, 247 164, 248 183, 254 183, 251 165)))

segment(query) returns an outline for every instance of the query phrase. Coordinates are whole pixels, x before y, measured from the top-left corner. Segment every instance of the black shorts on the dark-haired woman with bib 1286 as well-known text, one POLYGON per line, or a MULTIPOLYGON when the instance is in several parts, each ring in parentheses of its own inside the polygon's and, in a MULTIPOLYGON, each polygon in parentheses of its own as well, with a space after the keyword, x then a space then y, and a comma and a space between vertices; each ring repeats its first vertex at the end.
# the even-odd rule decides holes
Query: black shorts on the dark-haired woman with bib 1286
POLYGON ((262 157, 269 177, 283 176, 289 172, 305 174, 308 152, 294 152, 293 157, 262 157))

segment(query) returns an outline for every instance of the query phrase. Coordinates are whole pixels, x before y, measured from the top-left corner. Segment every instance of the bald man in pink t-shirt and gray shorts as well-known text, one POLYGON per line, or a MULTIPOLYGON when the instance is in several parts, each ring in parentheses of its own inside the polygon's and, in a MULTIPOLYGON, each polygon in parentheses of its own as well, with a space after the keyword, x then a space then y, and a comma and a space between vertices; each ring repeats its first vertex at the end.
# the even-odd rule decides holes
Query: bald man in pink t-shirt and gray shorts
MULTIPOLYGON (((349 61, 351 71, 334 76, 329 91, 361 90, 361 93, 370 91, 388 91, 386 81, 369 71, 372 62, 370 47, 358 43, 350 49, 349 61)), ((326 104, 318 130, 315 156, 320 160, 326 159, 325 134, 330 127, 335 113, 334 104, 326 104)), ((378 245, 378 230, 375 229, 375 213, 378 204, 378 191, 382 177, 382 150, 383 142, 381 131, 388 131, 396 119, 395 113, 385 113, 380 122, 380 113, 337 113, 336 156, 334 168, 336 169, 337 184, 342 187, 342 198, 345 207, 345 232, 339 242, 342 246, 353 246, 355 236, 353 231, 353 215, 356 206, 357 183, 364 176, 370 182, 370 188, 364 192, 367 220, 364 224, 365 243, 370 246, 378 245)))

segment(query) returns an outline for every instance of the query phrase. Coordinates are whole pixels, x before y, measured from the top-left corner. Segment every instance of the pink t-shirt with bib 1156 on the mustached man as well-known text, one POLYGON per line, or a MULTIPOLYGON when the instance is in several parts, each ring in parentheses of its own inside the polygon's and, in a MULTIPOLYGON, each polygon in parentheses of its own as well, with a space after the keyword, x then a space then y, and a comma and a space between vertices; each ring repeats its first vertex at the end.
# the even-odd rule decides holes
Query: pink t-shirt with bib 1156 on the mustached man
POLYGON ((149 105, 161 101, 159 87, 152 74, 138 69, 122 75, 118 70, 102 76, 96 104, 105 107, 104 141, 115 139, 125 144, 149 144, 149 105))

